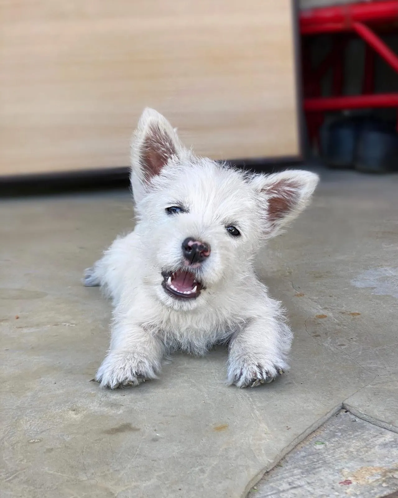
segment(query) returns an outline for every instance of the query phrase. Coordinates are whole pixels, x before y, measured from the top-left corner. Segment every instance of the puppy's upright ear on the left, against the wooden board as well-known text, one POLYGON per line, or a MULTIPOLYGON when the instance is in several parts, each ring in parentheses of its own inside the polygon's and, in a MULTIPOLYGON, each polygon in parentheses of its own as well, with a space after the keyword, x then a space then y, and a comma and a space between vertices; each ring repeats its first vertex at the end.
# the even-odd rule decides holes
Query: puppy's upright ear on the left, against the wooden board
POLYGON ((151 178, 183 149, 176 129, 157 111, 146 108, 131 141, 130 182, 135 202, 145 195, 151 178))

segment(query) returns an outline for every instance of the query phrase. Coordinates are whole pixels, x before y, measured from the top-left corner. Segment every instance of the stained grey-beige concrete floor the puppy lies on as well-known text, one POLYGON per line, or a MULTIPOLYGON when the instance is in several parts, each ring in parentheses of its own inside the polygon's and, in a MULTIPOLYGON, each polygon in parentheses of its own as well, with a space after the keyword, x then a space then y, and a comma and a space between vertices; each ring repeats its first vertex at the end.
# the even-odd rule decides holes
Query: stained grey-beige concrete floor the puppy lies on
POLYGON ((80 277, 132 226, 129 195, 1 201, 1 498, 238 498, 341 406, 398 432, 398 176, 321 174, 258 262, 292 370, 246 390, 222 349, 135 389, 90 382, 110 307, 80 277))

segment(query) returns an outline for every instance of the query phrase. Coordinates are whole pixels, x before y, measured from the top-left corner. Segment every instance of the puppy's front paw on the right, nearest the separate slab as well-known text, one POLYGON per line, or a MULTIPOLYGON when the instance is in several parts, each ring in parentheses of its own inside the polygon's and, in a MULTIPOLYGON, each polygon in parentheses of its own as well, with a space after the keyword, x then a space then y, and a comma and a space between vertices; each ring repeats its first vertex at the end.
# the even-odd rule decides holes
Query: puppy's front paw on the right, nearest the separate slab
POLYGON ((240 360, 228 365, 228 383, 237 387, 256 387, 273 382, 285 372, 285 362, 275 365, 268 362, 240 360), (282 366, 281 366, 282 365, 282 366))

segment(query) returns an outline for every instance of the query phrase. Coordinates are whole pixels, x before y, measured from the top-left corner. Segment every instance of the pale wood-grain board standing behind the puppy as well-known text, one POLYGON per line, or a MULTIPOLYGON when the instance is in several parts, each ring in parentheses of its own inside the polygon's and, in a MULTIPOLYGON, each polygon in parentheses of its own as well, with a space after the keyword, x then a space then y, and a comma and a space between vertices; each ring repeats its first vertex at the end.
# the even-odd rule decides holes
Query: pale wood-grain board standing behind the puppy
POLYGON ((298 155, 292 5, 3 0, 0 175, 127 166, 146 106, 203 155, 298 155))

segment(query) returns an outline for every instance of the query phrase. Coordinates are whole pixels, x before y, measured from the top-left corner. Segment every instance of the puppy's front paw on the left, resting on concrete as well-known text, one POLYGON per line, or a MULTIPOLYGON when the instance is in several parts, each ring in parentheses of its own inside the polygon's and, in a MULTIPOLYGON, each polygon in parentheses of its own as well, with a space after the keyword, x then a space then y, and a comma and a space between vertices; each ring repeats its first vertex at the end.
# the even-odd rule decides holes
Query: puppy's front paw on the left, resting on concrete
POLYGON ((156 368, 133 354, 109 353, 96 373, 102 387, 135 387, 145 380, 157 378, 156 368))

